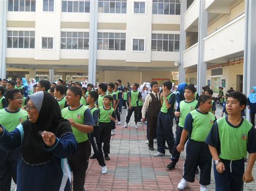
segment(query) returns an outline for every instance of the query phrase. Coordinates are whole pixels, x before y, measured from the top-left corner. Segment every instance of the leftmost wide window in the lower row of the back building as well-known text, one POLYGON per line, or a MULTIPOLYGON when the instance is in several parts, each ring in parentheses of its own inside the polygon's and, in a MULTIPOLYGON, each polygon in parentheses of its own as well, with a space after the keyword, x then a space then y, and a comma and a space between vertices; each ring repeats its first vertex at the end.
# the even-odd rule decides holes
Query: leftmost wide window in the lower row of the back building
POLYGON ((35 31, 7 31, 7 48, 35 48, 35 31))

